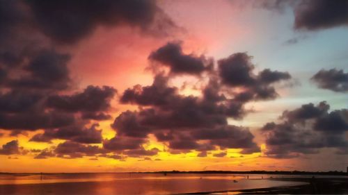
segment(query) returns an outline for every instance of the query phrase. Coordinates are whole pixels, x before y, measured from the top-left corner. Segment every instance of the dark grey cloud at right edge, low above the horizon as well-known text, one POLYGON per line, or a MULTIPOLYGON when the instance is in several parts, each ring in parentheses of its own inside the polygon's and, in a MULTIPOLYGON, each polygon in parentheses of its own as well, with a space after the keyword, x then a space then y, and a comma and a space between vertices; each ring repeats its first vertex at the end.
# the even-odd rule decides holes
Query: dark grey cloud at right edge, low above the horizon
POLYGON ((308 103, 301 108, 285 111, 278 124, 265 124, 261 130, 266 137, 267 152, 272 158, 292 158, 301 154, 319 153, 320 149, 342 151, 348 146, 348 111, 333 110, 326 102, 308 103))

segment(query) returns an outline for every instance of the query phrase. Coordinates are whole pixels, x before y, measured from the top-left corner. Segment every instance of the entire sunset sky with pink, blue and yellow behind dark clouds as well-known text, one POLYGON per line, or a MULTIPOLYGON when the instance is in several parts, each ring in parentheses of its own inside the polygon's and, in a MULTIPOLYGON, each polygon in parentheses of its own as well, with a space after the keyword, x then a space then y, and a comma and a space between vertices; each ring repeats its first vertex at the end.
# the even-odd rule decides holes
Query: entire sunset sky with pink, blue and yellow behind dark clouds
POLYGON ((0 0, 0 172, 345 171, 348 1, 0 0))

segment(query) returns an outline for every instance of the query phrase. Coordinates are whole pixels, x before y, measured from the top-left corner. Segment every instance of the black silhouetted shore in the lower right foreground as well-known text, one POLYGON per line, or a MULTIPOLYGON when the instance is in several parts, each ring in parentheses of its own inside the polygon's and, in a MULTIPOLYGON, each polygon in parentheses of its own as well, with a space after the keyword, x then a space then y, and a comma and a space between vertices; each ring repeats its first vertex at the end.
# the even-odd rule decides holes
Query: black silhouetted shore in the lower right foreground
POLYGON ((274 178, 270 180, 299 181, 308 184, 191 194, 348 194, 348 178, 274 178))

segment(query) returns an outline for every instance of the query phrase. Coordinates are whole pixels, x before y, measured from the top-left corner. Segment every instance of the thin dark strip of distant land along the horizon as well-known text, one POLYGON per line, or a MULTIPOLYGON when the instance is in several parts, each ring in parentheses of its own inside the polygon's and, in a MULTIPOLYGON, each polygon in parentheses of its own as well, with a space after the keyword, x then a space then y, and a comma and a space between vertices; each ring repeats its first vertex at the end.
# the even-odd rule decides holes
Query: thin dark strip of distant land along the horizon
POLYGON ((269 174, 269 175, 322 175, 322 176, 348 176, 348 173, 343 171, 149 171, 149 172, 76 172, 76 173, 10 173, 0 172, 0 174, 20 175, 20 174, 90 174, 90 173, 161 173, 161 174, 269 174))

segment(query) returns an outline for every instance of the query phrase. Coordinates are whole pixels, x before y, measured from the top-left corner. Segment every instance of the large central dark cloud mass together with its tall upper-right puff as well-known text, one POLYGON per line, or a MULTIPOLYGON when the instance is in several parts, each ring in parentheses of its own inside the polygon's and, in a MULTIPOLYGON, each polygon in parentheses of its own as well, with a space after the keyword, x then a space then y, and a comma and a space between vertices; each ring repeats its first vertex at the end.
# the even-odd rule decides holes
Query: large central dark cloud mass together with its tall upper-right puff
POLYGON ((179 94, 177 87, 168 84, 171 74, 157 74, 152 85, 136 85, 125 90, 121 103, 140 108, 122 112, 111 126, 127 139, 148 139, 148 135, 155 135, 159 142, 168 143, 171 153, 217 148, 260 152, 248 128, 228 126, 227 119, 242 119, 248 112, 244 104, 249 101, 276 98, 274 83, 289 80, 291 76, 269 69, 253 74, 255 67, 246 53, 232 54, 219 60, 218 65, 219 69, 210 69, 209 82, 200 88, 203 96, 179 94), (233 92, 234 87, 245 90, 233 92))

